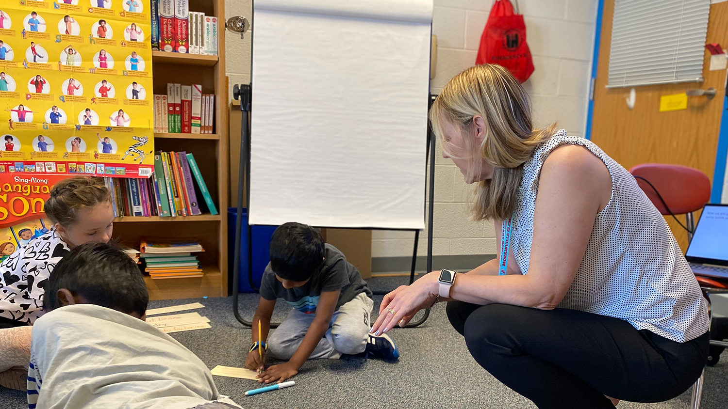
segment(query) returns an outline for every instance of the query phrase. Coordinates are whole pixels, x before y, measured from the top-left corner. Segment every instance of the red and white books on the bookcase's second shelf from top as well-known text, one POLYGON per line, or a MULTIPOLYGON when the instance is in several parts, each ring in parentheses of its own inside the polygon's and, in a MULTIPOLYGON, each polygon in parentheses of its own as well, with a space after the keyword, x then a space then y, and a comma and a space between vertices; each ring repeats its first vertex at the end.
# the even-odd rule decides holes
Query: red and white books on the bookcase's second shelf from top
POLYGON ((154 131, 170 134, 212 134, 215 94, 201 85, 167 84, 167 95, 154 95, 154 131))

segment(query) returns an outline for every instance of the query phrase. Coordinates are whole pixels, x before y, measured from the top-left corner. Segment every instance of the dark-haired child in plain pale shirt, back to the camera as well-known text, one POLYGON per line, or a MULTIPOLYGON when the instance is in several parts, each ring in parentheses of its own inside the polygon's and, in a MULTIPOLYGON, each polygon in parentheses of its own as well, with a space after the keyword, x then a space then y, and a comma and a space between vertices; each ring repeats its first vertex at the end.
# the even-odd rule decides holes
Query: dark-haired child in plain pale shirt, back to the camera
POLYGON ((124 251, 95 242, 71 250, 33 325, 29 408, 239 408, 220 400, 202 360, 143 321, 148 301, 124 251))

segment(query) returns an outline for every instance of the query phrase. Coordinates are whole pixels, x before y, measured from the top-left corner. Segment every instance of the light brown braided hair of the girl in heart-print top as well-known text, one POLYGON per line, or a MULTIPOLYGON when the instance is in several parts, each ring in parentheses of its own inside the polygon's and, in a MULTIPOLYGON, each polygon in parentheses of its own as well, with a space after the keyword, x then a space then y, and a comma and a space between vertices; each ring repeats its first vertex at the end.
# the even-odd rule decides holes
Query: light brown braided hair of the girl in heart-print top
POLYGON ((53 186, 44 211, 53 224, 71 226, 78 221, 79 210, 98 203, 111 203, 111 193, 102 179, 71 177, 53 186))

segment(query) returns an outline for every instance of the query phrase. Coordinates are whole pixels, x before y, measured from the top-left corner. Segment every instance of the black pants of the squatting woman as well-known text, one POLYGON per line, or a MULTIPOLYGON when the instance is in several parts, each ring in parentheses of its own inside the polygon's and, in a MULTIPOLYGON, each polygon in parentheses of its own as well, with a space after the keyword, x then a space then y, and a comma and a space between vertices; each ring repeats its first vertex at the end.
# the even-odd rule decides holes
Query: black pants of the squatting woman
POLYGON ((541 409, 614 409, 605 394, 669 400, 695 383, 708 357, 708 333, 680 343, 573 309, 452 301, 447 312, 480 366, 541 409))

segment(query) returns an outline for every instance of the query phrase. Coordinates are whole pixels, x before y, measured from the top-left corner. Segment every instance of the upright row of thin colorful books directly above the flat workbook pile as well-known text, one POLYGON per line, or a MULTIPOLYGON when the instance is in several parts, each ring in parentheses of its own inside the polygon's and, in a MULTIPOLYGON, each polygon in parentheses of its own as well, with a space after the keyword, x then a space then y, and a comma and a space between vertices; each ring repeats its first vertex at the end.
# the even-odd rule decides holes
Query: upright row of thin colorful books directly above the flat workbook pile
POLYGON ((149 179, 105 177, 104 183, 111 191, 114 217, 218 214, 191 153, 157 152, 149 179))

